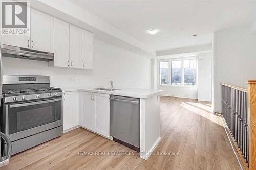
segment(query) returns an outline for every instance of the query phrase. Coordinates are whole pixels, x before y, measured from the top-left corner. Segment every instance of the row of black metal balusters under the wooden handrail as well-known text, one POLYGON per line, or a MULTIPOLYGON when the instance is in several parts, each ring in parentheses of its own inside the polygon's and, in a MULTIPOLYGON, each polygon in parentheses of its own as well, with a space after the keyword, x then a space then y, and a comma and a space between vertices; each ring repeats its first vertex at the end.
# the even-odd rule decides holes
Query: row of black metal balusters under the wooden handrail
MULTIPOLYGON (((247 92, 221 86, 221 109, 224 121, 245 162, 249 162, 247 92)), ((249 164, 247 165, 249 167, 249 164)))

